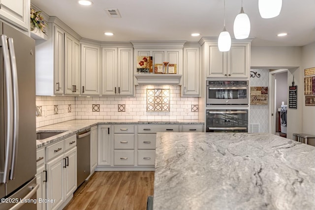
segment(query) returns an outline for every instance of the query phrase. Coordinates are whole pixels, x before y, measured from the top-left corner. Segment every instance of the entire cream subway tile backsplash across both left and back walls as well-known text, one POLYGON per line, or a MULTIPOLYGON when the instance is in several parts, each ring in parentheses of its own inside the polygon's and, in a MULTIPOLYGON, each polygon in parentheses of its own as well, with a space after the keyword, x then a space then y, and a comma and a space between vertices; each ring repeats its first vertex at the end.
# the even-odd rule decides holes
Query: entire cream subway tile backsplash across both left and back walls
POLYGON ((198 98, 181 97, 180 86, 136 86, 135 97, 36 96, 42 116, 36 127, 74 119, 198 120, 198 98), (147 89, 169 89, 169 112, 147 112, 147 89), (55 107, 58 105, 58 114, 55 107), (70 110, 70 112, 69 112, 70 110))

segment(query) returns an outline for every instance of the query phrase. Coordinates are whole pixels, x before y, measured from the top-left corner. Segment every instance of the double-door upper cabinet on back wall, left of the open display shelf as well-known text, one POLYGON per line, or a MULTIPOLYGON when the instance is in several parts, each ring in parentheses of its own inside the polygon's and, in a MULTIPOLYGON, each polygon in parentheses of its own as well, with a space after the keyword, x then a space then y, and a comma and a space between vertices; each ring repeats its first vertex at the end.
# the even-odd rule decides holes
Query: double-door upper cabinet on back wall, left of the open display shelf
POLYGON ((102 96, 133 95, 133 49, 102 47, 102 96))

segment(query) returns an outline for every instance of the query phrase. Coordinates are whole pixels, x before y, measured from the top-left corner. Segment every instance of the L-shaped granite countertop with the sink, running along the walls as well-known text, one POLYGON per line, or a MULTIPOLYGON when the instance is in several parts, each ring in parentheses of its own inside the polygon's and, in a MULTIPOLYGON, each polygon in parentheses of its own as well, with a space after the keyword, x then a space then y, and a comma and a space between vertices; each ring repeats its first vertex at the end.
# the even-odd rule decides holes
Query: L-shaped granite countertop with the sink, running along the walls
POLYGON ((37 148, 41 148, 60 141, 63 138, 71 136, 76 132, 83 131, 98 124, 204 124, 199 120, 178 120, 178 121, 161 121, 161 120, 69 120, 56 124, 51 124, 43 127, 36 128, 36 132, 40 131, 56 131, 63 132, 53 137, 49 137, 44 140, 36 140, 37 148))

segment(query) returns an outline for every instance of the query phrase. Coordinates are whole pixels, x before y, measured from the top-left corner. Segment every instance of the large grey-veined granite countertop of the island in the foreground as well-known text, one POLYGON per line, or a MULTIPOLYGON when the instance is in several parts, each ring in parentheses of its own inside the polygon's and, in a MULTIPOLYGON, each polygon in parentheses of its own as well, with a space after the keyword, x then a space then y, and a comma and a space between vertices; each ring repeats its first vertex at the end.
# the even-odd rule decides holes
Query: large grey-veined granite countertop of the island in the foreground
POLYGON ((315 210, 315 147, 267 133, 158 133, 154 210, 315 210))

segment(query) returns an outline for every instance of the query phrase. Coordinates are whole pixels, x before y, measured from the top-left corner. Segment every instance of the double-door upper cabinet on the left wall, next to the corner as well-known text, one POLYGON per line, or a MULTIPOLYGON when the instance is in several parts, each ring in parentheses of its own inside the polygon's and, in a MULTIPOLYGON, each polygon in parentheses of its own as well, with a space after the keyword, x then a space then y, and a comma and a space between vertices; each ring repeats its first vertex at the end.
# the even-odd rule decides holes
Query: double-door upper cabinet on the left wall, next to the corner
POLYGON ((80 43, 65 33, 64 35, 64 94, 80 94, 80 43))

